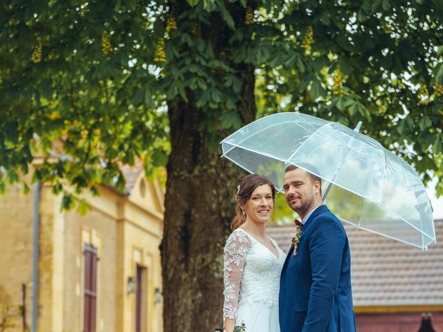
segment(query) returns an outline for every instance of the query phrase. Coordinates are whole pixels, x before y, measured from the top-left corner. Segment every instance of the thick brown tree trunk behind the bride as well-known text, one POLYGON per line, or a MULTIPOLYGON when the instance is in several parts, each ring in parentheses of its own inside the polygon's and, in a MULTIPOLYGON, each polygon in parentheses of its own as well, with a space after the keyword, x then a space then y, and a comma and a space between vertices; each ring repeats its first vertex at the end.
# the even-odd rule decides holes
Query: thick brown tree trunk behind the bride
MULTIPOLYGON (((221 28, 219 18, 213 22, 207 38, 216 54, 229 54, 230 34, 221 28)), ((243 82, 239 112, 244 123, 251 122, 254 68, 240 64, 237 70, 243 82)), ((220 158, 220 151, 208 151, 210 133, 199 130, 205 114, 195 107, 192 95, 188 98, 188 103, 168 105, 172 151, 161 245, 165 332, 206 332, 222 325, 223 247, 235 212, 237 181, 243 175, 239 167, 220 158)))

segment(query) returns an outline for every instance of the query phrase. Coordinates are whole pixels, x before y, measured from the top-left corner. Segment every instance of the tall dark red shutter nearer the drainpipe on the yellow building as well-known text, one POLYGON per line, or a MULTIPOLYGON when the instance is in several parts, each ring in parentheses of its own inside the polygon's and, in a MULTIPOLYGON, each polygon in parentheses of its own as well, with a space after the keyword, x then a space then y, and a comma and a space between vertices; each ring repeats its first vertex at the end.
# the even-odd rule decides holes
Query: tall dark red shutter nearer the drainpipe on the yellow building
POLYGON ((83 331, 96 332, 97 248, 84 244, 83 331))

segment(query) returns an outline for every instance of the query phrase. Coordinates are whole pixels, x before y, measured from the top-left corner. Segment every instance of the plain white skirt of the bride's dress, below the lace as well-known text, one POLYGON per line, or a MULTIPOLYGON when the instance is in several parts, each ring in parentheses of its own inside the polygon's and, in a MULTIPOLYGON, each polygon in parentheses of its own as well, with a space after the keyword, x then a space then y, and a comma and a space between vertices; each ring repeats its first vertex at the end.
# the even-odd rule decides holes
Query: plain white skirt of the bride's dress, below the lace
POLYGON ((244 322, 246 332, 280 332, 278 322, 278 304, 269 305, 253 302, 242 304, 238 308, 236 325, 244 322))

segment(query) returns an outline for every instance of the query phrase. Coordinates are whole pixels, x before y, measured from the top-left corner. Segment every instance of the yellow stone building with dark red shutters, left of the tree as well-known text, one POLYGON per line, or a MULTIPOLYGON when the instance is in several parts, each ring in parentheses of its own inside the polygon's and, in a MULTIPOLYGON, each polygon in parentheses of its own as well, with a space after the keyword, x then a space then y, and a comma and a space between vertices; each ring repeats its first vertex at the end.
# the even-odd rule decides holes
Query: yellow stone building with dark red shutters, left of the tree
POLYGON ((125 194, 104 186, 100 196, 83 194, 91 207, 84 216, 61 212, 61 197, 46 183, 39 195, 21 185, 0 195, 0 331, 30 331, 35 208, 36 331, 163 331, 163 192, 141 167, 123 173, 125 194))

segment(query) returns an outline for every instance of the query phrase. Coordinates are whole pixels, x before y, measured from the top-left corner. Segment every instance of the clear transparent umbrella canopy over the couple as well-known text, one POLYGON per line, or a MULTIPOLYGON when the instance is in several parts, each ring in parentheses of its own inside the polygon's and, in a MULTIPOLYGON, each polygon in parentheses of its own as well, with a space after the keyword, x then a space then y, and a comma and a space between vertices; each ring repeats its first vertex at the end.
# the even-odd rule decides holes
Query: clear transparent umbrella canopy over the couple
MULTIPOLYGON (((376 140, 302 113, 276 113, 221 141, 223 156, 267 176, 282 192, 297 165, 332 184, 327 205, 341 221, 426 250, 435 242, 431 203, 415 170, 376 140)), ((323 189, 325 190, 325 189, 323 189)))

